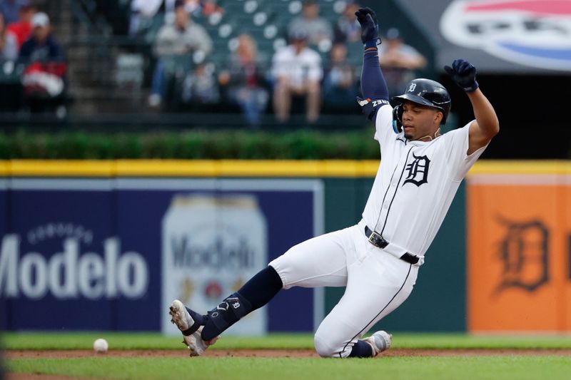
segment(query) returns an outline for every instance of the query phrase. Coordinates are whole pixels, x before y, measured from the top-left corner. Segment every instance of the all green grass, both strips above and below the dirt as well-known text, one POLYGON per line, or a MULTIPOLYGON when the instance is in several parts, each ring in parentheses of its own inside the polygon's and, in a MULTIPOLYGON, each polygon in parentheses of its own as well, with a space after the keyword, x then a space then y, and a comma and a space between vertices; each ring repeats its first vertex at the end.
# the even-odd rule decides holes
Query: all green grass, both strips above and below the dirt
MULTIPOLYGON (((379 359, 261 357, 188 358, 180 337, 146 333, 8 333, 6 349, 91 349, 105 337, 111 349, 181 349, 181 357, 86 356, 74 359, 11 359, 10 371, 90 379, 569 379, 570 356, 417 356, 379 359)), ((571 349, 571 337, 502 337, 395 333, 395 348, 571 349)), ((212 349, 312 349, 310 334, 223 337, 212 349)))

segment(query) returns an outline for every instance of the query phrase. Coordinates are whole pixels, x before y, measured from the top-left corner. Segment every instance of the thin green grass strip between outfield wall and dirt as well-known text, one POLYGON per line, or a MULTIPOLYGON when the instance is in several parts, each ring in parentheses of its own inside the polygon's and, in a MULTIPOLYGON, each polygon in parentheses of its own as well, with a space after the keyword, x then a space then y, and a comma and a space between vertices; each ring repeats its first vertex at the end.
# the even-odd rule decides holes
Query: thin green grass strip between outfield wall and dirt
MULTIPOLYGON (((116 332, 11 332, 2 340, 6 349, 91 349, 96 338, 110 349, 178 349, 181 337, 116 332)), ((571 336, 480 336, 467 334, 393 334, 393 346, 418 349, 571 349, 571 336)), ((265 337, 223 336, 213 349, 313 349, 310 334, 270 334, 265 337)))

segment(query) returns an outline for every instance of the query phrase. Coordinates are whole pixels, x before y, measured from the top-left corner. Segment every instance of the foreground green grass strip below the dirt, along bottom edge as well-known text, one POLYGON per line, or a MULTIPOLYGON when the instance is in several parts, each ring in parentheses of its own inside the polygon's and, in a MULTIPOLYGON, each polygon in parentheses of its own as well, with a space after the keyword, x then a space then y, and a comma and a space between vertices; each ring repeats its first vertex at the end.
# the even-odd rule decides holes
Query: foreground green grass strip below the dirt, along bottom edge
POLYGON ((16 372, 66 374, 91 379, 569 379, 571 361, 557 356, 290 358, 84 358, 18 359, 16 372))

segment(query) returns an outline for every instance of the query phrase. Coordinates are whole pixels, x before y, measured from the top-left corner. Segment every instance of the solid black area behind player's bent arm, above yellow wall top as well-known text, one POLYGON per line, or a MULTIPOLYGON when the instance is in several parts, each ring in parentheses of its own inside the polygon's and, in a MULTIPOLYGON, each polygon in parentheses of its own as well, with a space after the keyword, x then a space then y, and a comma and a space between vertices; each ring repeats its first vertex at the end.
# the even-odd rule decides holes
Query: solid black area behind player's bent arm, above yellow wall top
MULTIPOLYGON (((468 97, 448 76, 440 78, 459 124, 472 120, 468 97)), ((477 81, 500 120, 500 133, 482 158, 571 158, 571 76, 482 75, 477 81)))

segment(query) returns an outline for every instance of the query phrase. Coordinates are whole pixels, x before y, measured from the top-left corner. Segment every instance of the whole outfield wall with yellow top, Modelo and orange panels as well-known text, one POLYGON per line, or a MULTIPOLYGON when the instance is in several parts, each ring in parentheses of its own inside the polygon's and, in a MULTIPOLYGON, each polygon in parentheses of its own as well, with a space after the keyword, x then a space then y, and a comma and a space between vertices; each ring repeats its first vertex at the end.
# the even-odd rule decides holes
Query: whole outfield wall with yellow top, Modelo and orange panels
MULTIPOLYGON (((512 177, 506 173, 519 173, 557 182, 563 175, 565 183, 568 167, 559 162, 477 163, 468 180, 470 289, 463 184, 426 254, 413 294, 383 320, 383 327, 504 330, 510 329, 507 322, 522 319, 512 326, 570 329, 565 294, 571 294, 571 269, 565 272, 570 265, 564 255, 569 251, 552 250, 564 247, 567 235, 550 232, 557 237, 545 250, 552 263, 545 281, 533 289, 508 284, 502 297, 514 298, 499 299, 488 291, 497 280, 489 273, 497 273, 505 262, 496 250, 504 235, 482 233, 494 223, 495 211, 490 210, 507 204, 502 197, 514 200, 507 215, 526 210, 526 202, 534 202, 537 210, 552 199, 553 210, 571 204, 570 193, 561 188, 512 197, 518 183, 492 202, 497 189, 482 178, 507 178, 509 183, 512 177), (545 323, 530 317, 533 308, 505 307, 505 302, 521 305, 538 299, 551 305, 545 310, 554 317, 545 323)), ((176 332, 164 312, 173 297, 206 309, 291 245, 357 222, 377 168, 378 161, 0 162, 1 327, 176 332), (133 319, 133 314, 141 317, 133 319)), ((568 214, 554 211, 545 217, 568 214)), ((558 221, 549 222, 549 228, 558 221)), ((534 233, 531 245, 537 242, 534 233)), ((508 251, 510 260, 522 257, 518 250, 508 251)), ((521 274, 521 281, 525 276, 521 274)), ((343 288, 281 292, 250 322, 237 324, 235 332, 310 331, 342 294, 343 288)))

